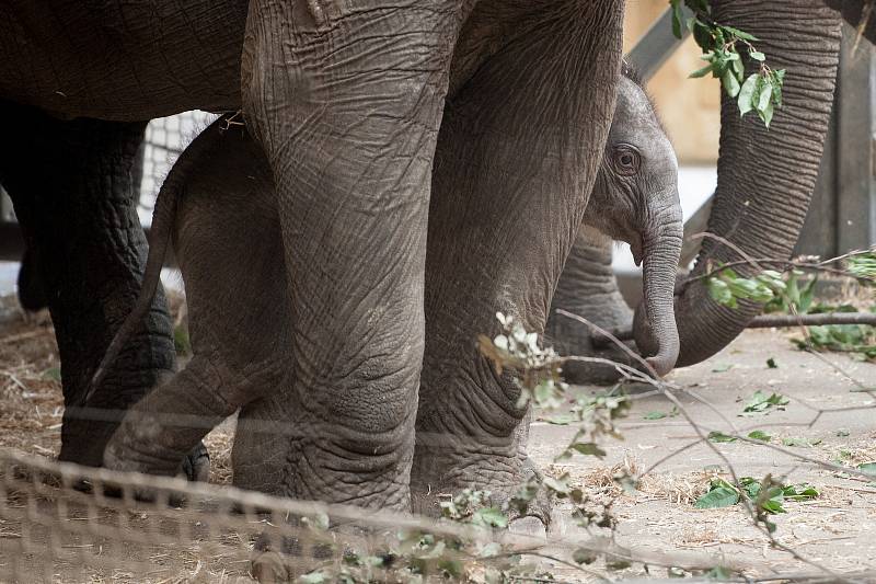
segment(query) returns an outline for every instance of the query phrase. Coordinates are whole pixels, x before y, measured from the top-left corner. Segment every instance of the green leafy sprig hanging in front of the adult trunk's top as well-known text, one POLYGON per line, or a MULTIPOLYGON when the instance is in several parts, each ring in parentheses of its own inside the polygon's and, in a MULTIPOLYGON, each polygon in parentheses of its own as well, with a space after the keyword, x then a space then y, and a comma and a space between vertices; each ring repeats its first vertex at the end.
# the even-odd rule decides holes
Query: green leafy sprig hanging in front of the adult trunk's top
POLYGON ((670 0, 669 3, 672 7, 672 33, 681 38, 682 27, 687 26, 703 50, 702 59, 708 64, 690 77, 712 73, 712 77, 721 79, 727 95, 737 100, 739 113, 746 115, 753 110, 769 128, 775 108, 782 107, 785 70, 772 69, 766 64, 766 56, 753 45, 758 37, 715 22, 708 0, 683 0, 683 5, 693 12, 693 16, 687 20, 682 0, 670 0), (757 64, 757 71, 748 77, 744 55, 749 62, 757 64))

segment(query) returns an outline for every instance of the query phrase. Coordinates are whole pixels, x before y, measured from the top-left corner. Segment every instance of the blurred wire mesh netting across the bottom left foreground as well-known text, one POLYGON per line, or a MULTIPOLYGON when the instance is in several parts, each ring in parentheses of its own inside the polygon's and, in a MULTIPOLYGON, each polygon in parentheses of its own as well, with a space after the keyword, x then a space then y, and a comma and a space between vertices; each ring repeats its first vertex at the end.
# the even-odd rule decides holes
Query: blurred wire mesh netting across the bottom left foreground
POLYGON ((431 582, 543 543, 0 449, 0 582, 431 582))

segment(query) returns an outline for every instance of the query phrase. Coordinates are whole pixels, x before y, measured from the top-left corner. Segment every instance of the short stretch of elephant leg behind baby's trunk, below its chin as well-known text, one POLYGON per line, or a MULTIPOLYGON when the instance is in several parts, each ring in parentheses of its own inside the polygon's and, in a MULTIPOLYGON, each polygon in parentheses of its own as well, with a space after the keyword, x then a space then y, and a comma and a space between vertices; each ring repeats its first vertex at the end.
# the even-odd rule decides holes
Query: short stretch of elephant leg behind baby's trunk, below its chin
MULTIPOLYGON (((618 289, 611 268, 611 240, 581 226, 556 285, 545 340, 561 355, 604 357, 633 365, 631 357, 618 350, 597 350, 590 330, 578 321, 556 313, 561 308, 586 318, 602 329, 624 329, 633 324, 633 311, 618 289)), ((570 383, 614 382, 618 370, 610 365, 570 362, 563 366, 563 378, 570 383)))

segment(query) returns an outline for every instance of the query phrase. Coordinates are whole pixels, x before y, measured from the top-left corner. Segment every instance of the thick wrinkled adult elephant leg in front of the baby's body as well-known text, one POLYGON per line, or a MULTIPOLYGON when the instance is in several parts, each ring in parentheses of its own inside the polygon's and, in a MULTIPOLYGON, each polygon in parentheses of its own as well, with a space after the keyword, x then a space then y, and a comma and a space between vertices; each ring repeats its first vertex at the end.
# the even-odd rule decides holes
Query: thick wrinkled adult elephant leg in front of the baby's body
POLYGON ((465 3, 250 2, 244 114, 292 320, 291 496, 408 506, 429 176, 465 3))

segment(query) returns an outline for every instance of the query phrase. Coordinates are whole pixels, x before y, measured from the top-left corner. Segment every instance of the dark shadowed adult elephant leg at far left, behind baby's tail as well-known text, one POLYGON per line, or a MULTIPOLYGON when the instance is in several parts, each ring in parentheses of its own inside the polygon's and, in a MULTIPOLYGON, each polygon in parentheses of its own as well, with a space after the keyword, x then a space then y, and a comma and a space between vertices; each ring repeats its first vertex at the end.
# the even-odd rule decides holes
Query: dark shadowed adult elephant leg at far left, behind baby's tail
MULTIPOLYGON (((3 112, 0 182, 35 253, 61 358, 59 458, 100 466, 124 412, 174 370, 172 324, 159 291, 106 382, 83 403, 140 289, 147 241, 132 167, 146 123, 62 122, 12 103, 3 112)), ((200 454, 189 467, 203 466, 200 454)))

